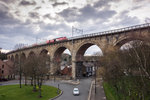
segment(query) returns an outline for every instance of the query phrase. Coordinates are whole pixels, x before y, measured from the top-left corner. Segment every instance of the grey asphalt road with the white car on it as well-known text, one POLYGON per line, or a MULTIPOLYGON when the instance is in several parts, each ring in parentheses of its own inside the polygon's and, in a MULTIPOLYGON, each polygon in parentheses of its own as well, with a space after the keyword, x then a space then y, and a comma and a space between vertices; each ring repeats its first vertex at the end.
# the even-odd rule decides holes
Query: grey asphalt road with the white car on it
MULTIPOLYGON (((0 85, 10 85, 10 84, 19 84, 18 80, 8 81, 8 82, 0 82, 0 85)), ((62 82, 62 81, 46 81, 45 85, 51 85, 58 87, 63 91, 63 94, 55 100, 87 100, 88 93, 90 89, 91 79, 81 79, 80 84, 73 85, 70 83, 62 82), (80 91, 79 96, 74 96, 72 94, 73 88, 78 87, 80 91)))

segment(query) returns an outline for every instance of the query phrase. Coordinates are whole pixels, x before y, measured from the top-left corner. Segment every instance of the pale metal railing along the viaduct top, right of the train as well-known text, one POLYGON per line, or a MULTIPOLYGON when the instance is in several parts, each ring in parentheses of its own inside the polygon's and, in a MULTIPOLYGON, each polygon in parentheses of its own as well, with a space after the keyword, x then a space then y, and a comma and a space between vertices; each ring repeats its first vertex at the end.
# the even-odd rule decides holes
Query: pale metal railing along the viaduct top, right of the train
POLYGON ((107 35, 107 34, 124 32, 124 31, 129 31, 129 30, 134 30, 134 29, 146 28, 146 27, 150 27, 150 23, 125 27, 125 28, 120 28, 120 29, 115 29, 115 30, 109 30, 109 31, 96 32, 96 33, 91 33, 91 34, 79 35, 79 36, 75 36, 75 37, 70 37, 70 38, 68 38, 68 40, 85 38, 85 37, 92 37, 92 36, 107 35))

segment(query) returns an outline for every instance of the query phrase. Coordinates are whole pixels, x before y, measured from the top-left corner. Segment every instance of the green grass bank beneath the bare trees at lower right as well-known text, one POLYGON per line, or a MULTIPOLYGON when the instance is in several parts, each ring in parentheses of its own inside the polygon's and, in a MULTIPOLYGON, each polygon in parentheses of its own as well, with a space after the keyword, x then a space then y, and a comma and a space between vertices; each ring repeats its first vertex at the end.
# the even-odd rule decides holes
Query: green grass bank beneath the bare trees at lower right
POLYGON ((103 82, 107 100, 150 100, 150 80, 144 79, 145 87, 140 83, 140 77, 122 77, 116 82, 117 89, 108 82, 103 82), (144 99, 140 94, 143 89, 144 99), (129 95, 130 93, 130 95, 129 95))

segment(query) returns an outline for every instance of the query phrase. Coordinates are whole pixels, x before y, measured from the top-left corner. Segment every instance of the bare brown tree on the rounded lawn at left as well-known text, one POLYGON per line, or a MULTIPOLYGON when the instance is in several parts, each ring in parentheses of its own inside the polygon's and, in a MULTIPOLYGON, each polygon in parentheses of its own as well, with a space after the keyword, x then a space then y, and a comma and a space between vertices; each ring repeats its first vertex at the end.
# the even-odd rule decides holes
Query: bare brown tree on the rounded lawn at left
POLYGON ((37 91, 36 85, 39 87, 39 97, 41 95, 41 87, 43 80, 49 72, 49 66, 46 64, 47 57, 43 55, 29 57, 24 64, 24 73, 33 79, 33 91, 37 91))

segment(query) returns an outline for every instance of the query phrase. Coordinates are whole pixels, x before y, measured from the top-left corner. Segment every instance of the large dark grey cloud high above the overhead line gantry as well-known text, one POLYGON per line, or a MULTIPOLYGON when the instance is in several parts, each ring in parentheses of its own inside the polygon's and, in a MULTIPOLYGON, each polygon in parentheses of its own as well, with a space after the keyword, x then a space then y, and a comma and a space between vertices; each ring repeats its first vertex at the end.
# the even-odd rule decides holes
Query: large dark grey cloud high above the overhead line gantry
POLYGON ((104 9, 104 10, 98 11, 93 6, 86 5, 85 7, 81 9, 77 9, 75 7, 68 8, 58 14, 62 16, 68 22, 73 22, 73 21, 85 22, 90 19, 93 21, 96 19, 105 20, 115 15, 116 12, 110 9, 104 9))

